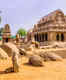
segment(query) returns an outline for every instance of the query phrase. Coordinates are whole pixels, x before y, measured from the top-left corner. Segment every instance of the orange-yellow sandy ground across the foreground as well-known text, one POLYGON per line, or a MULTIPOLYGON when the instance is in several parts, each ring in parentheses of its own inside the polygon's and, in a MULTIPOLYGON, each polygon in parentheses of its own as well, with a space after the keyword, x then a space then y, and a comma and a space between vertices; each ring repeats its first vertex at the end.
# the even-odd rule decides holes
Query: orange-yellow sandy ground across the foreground
POLYGON ((63 61, 44 62, 44 67, 33 67, 23 57, 20 72, 4 73, 12 67, 11 59, 0 60, 0 80, 66 80, 66 59, 63 61))

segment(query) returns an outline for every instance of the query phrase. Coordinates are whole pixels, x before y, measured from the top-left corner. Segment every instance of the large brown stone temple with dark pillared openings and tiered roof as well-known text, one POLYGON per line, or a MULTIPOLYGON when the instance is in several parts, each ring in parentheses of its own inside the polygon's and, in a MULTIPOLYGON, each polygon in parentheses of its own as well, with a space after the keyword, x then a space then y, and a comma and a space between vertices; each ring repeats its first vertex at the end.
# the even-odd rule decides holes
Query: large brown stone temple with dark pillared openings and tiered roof
MULTIPOLYGON (((30 40, 38 41, 41 45, 52 41, 66 41, 66 16, 61 10, 55 10, 44 16, 34 25, 30 32, 30 40)), ((28 36, 29 36, 28 35, 28 36)))

